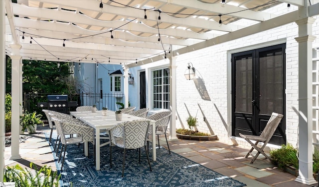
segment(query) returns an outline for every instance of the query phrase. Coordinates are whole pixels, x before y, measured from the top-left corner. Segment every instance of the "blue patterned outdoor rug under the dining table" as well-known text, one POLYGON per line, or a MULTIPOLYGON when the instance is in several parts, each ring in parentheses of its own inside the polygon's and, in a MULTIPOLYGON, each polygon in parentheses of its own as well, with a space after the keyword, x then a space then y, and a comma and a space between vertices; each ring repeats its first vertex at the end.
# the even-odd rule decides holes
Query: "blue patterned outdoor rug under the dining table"
MULTIPOLYGON (((46 136, 49 136, 46 134, 46 136)), ((47 138, 48 139, 48 138, 47 138)), ((53 135, 52 145, 55 137, 53 135)), ((91 144, 91 143, 89 143, 91 144)), ((61 146, 60 146, 61 147, 61 146)), ((53 151, 53 147, 51 146, 53 151)), ((152 172, 144 148, 141 162, 137 150, 127 150, 124 177, 122 178, 123 149, 112 147, 112 168, 109 164, 109 146, 101 147, 101 170, 96 171, 93 146, 90 158, 83 154, 83 146, 68 145, 63 170, 55 163, 61 174, 60 187, 243 187, 230 177, 223 176, 187 158, 164 148, 157 149, 157 161, 151 160, 152 172)), ((150 159, 152 151, 149 151, 150 159)), ((63 155, 62 155, 63 156, 63 155)))

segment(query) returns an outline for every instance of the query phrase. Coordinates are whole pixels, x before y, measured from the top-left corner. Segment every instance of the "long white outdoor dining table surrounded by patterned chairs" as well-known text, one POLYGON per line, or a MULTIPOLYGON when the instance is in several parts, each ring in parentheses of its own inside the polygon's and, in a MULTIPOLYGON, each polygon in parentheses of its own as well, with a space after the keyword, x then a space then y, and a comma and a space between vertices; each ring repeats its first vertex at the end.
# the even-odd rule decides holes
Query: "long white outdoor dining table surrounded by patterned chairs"
MULTIPOLYGON (((140 118, 137 116, 132 116, 129 114, 122 114, 122 120, 117 121, 115 119, 115 112, 114 111, 107 111, 106 116, 102 116, 101 111, 96 111, 95 113, 91 111, 86 112, 70 112, 70 115, 75 117, 76 119, 81 120, 85 124, 93 127, 95 129, 95 151, 96 151, 96 170, 100 170, 100 147, 109 144, 103 143, 100 144, 100 131, 101 130, 108 130, 112 126, 122 123, 122 122, 129 122, 134 120, 143 120, 145 118, 140 118)), ((152 130, 152 146, 153 146, 153 160, 156 161, 156 134, 155 134, 155 124, 156 122, 153 120, 150 120, 150 124, 153 126, 152 130)), ((88 146, 85 144, 85 155, 88 155, 88 146)))

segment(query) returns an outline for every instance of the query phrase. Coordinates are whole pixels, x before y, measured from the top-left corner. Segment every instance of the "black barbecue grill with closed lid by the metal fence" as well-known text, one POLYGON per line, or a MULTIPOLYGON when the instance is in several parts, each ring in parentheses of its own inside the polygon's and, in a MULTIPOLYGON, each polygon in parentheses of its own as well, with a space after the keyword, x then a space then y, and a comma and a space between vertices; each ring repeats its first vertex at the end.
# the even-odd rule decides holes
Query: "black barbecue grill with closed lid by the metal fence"
POLYGON ((48 95, 48 102, 38 103, 40 108, 48 108, 48 110, 68 114, 69 107, 77 107, 76 101, 68 102, 68 95, 48 95))

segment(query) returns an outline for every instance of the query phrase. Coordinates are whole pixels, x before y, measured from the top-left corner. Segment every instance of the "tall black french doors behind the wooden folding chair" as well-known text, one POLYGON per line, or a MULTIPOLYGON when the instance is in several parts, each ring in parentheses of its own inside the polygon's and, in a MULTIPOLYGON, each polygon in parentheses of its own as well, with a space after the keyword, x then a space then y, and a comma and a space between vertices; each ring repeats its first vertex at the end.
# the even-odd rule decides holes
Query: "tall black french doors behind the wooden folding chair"
MULTIPOLYGON (((286 44, 232 54, 232 135, 260 135, 272 112, 285 115, 286 44)), ((270 143, 286 144, 285 118, 270 143)))

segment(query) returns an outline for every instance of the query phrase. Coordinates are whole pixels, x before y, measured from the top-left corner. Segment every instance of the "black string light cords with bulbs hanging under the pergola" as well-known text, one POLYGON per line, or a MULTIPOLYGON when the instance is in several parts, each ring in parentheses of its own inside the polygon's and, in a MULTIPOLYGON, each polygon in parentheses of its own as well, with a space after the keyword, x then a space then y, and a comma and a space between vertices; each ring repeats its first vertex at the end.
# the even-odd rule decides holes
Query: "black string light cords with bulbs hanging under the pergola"
MULTIPOLYGON (((238 13, 238 12, 242 12, 242 11, 246 11, 246 10, 251 10, 251 9, 255 9, 255 8, 261 7, 261 6, 270 5, 270 4, 279 2, 279 1, 274 1, 274 2, 267 3, 267 4, 262 4, 262 5, 259 5, 259 6, 255 6, 255 7, 253 7, 253 8, 248 8, 248 9, 239 10, 239 11, 235 11, 235 12, 229 12, 229 13, 225 13, 225 14, 185 14, 185 13, 176 13, 176 12, 165 12, 165 11, 161 11, 160 9, 154 10, 154 8, 148 8, 148 9, 146 9, 146 8, 138 8, 138 7, 134 7, 134 6, 122 4, 122 3, 117 2, 117 1, 114 1, 114 0, 110 0, 110 1, 112 1, 112 2, 114 2, 114 3, 121 4, 121 5, 126 6, 126 7, 143 10, 143 11, 145 12, 145 16, 144 16, 145 19, 147 19, 146 11, 153 10, 153 11, 158 11, 158 12, 159 12, 159 20, 160 20, 160 13, 175 14, 175 15, 177 14, 177 15, 196 15, 196 16, 219 16, 219 24, 221 24, 221 22, 222 22, 222 21, 221 21, 221 16, 223 16, 223 15, 228 15, 228 14, 238 13)), ((311 1, 310 1, 310 0, 309 0, 309 2, 310 2, 310 4, 311 4, 311 1)), ((101 3, 102 3, 102 1, 101 1, 101 3)), ((100 3, 100 6, 101 6, 101 3, 100 3)), ((103 3, 102 3, 102 6, 103 6, 103 3)), ((21 30, 19 30, 19 29, 16 29, 16 30, 22 32, 22 34, 23 34, 23 35, 22 35, 22 39, 24 38, 24 34, 29 34, 29 35, 31 35, 31 36, 37 36, 37 37, 41 37, 41 38, 63 40, 62 47, 65 47, 65 46, 66 46, 65 41, 70 41, 70 40, 75 40, 75 39, 81 39, 81 38, 86 38, 86 37, 92 37, 92 36, 101 35, 101 34, 108 33, 108 32, 111 33, 111 39, 113 39, 114 37, 113 37, 113 35, 112 35, 112 31, 117 30, 117 29, 123 27, 124 25, 127 25, 127 24, 131 23, 132 21, 135 21, 136 19, 137 19, 137 18, 135 18, 135 19, 133 19, 133 20, 131 20, 131 21, 129 21, 129 22, 127 22, 127 23, 125 23, 125 24, 123 24, 123 25, 121 25, 121 26, 119 26, 119 27, 113 29, 113 30, 109 30, 109 31, 106 31, 106 32, 102 32, 102 33, 98 33, 98 34, 93 34, 93 35, 81 36, 81 37, 76 37, 76 38, 69 38, 69 39, 66 39, 66 38, 61 39, 61 38, 45 37, 45 36, 40 36, 40 35, 35 35, 35 34, 27 33, 27 32, 21 31, 21 30)), ((168 53, 170 53, 170 49, 169 49, 169 50, 164 50, 163 43, 162 43, 161 36, 160 36, 159 22, 157 22, 157 27, 158 27, 158 32, 159 32, 159 39, 158 39, 158 41, 161 43, 161 46, 162 46, 162 48, 163 48, 163 52, 164 52, 164 54, 165 54, 165 59, 166 59, 166 51, 168 51, 168 53)), ((55 55, 53 55, 51 52, 49 52, 48 50, 46 50, 43 46, 41 46, 38 42, 36 42, 32 37, 31 37, 31 39, 30 39, 30 44, 32 44, 32 40, 33 40, 36 44, 38 44, 41 48, 43 48, 45 51, 47 51, 50 55, 52 55, 52 56, 55 57, 56 59, 59 59, 58 57, 56 57, 55 55)), ((156 56, 156 55, 159 55, 159 54, 161 54, 161 53, 162 53, 162 52, 160 52, 160 53, 158 53, 158 54, 151 55, 151 56, 149 56, 149 57, 156 56)), ((89 55, 87 55, 87 56, 84 57, 84 58, 86 59, 88 56, 89 56, 89 55)), ((103 55, 102 55, 102 56, 103 56, 103 55)), ((134 59, 115 59, 115 58, 110 58, 110 57, 106 57, 106 56, 103 56, 103 57, 108 58, 108 59, 109 59, 108 62, 110 62, 110 60, 113 59, 113 60, 125 60, 125 61, 134 61, 134 60, 135 60, 136 63, 137 63, 138 60, 148 58, 148 57, 144 57, 144 58, 138 58, 138 59, 136 59, 136 58, 134 58, 134 59)), ((79 62, 82 61, 84 58, 80 59, 79 62)), ((63 60, 63 59, 59 59, 59 60, 63 60)), ((73 59, 72 59, 72 60, 73 60, 73 59)), ((71 59, 70 59, 70 60, 64 59, 62 62, 73 62, 72 60, 71 60, 71 59)), ((92 58, 92 60, 93 60, 93 58, 92 58)), ((102 62, 98 62, 98 63, 102 63, 102 62)), ((122 63, 121 63, 121 64, 122 64, 122 63)))

